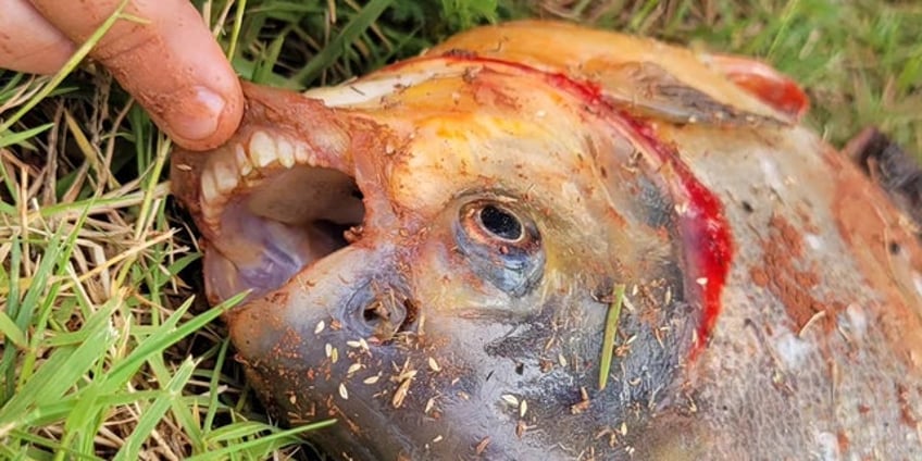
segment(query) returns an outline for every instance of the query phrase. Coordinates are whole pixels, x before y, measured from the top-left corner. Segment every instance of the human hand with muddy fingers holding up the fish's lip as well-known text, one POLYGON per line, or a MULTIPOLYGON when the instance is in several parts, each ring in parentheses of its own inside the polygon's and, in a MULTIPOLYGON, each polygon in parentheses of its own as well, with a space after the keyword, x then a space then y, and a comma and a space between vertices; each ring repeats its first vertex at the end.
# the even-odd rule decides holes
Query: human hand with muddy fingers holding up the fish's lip
MULTIPOLYGON (((0 68, 57 72, 120 0, 0 0, 0 68)), ((214 148, 240 123, 244 96, 230 64, 188 0, 133 0, 90 51, 187 149, 214 148)))

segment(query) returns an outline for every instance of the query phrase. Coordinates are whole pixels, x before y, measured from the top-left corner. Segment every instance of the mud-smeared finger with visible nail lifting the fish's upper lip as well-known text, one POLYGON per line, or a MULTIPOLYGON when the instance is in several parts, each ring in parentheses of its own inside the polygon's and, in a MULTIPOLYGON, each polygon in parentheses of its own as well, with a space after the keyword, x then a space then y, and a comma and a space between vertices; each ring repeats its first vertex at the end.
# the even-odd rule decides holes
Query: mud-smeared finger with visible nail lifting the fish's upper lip
MULTIPOLYGON (((90 0, 75 7, 60 0, 30 0, 51 24, 84 42, 121 3, 90 0)), ((240 83, 221 47, 187 0, 134 0, 90 55, 150 113, 157 125, 187 149, 226 141, 244 109, 240 83)))

